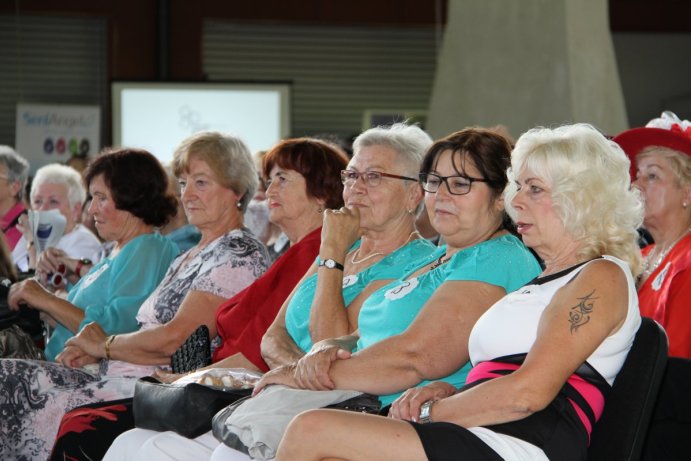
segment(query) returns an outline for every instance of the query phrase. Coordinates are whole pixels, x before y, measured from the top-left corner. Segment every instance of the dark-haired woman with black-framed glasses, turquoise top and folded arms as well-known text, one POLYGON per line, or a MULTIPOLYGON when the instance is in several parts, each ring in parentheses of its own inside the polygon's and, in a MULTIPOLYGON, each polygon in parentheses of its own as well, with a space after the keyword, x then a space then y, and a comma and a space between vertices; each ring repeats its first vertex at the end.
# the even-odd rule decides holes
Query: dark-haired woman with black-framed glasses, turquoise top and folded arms
POLYGON ((510 151, 501 135, 477 128, 435 142, 420 180, 430 221, 446 246, 364 301, 359 338, 316 344, 297 365, 265 375, 259 387, 355 389, 389 404, 426 380, 463 384, 467 365, 457 364, 468 362, 468 349, 458 347, 459 338, 468 337, 494 302, 540 272, 509 232, 504 212, 510 151))

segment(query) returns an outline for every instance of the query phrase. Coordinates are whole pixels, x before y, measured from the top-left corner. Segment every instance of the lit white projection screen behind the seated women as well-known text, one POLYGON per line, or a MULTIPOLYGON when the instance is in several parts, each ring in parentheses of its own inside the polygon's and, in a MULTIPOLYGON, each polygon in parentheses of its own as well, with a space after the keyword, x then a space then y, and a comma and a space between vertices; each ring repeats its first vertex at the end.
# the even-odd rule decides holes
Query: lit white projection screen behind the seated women
POLYGON ((289 84, 114 82, 113 145, 148 150, 162 163, 199 131, 240 137, 254 153, 290 134, 289 84))

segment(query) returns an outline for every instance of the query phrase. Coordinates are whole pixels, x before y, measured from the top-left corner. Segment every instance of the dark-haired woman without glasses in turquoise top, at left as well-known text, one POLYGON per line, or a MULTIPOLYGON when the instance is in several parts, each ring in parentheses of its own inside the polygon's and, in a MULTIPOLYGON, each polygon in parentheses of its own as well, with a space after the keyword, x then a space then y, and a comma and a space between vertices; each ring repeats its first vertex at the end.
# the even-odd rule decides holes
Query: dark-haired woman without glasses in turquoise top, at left
POLYGON ((154 230, 175 215, 177 204, 153 155, 136 149, 104 153, 87 169, 85 182, 98 234, 115 242, 109 257, 94 266, 67 299, 33 279, 13 285, 8 298, 14 309, 28 305, 40 310, 55 328, 46 346, 48 360, 87 323, 98 322, 110 334, 136 330, 139 306, 178 255, 177 247, 154 230))

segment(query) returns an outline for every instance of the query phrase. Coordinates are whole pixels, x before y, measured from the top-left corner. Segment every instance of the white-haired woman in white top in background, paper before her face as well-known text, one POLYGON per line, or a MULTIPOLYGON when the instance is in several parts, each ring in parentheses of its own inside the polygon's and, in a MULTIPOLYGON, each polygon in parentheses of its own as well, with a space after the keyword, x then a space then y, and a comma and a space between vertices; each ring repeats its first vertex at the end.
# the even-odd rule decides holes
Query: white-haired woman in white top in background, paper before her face
MULTIPOLYGON (((55 273, 59 264, 64 264, 68 272, 66 275, 73 276, 79 261, 89 266, 98 262, 101 242, 79 223, 86 190, 76 170, 57 163, 39 168, 31 183, 29 196, 33 211, 58 210, 65 217, 65 228, 55 247, 46 249, 43 261, 37 265, 39 255, 34 235, 26 220, 22 219, 24 235, 12 251, 12 259, 20 271, 36 268, 41 279, 47 282, 47 276, 55 273)), ((76 283, 78 279, 75 276, 70 281, 76 283)))

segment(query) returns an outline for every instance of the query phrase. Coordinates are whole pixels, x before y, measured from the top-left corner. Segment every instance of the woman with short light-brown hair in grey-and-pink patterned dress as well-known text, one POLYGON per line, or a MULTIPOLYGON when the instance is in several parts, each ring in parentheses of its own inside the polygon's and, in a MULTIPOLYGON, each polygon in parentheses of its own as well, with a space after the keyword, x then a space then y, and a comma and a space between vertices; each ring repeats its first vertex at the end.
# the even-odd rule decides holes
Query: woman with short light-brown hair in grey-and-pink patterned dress
MULTIPOLYGON (((14 376, 0 384, 0 412, 12 415, 0 419, 0 458, 47 459, 66 410, 131 397, 137 378, 170 365, 173 353, 201 325, 208 328, 215 347, 218 306, 267 269, 266 249, 243 227, 242 213, 257 185, 257 171, 245 144, 222 133, 195 134, 176 150, 173 169, 187 218, 202 234, 200 242, 171 263, 141 304, 136 314, 139 331, 113 334, 91 322, 80 325, 79 333, 67 340, 56 358, 60 363, 0 361, 0 376, 14 376), (79 368, 65 366, 75 361, 79 368), (99 362, 95 367, 83 366, 99 362)), ((165 189, 162 168, 160 175, 165 189)), ((102 176, 87 175, 87 180, 93 184, 102 176)), ((129 177, 111 178, 111 188, 130 192, 129 181, 129 177)), ((92 208, 102 206, 103 197, 93 195, 92 208)), ((147 199, 135 191, 123 198, 140 207, 147 206, 147 199)), ((106 224, 114 224, 105 211, 95 216, 99 233, 106 224)), ((99 271, 95 266, 75 289, 99 271)))

